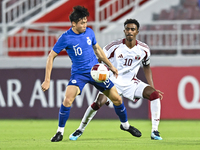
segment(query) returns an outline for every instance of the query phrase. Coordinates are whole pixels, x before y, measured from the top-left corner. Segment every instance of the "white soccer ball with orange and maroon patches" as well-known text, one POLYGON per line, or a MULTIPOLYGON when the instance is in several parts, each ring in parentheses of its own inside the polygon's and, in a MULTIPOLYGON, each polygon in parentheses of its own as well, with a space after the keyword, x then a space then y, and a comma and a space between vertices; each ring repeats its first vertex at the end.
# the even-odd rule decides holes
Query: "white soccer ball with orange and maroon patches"
POLYGON ((104 64, 96 64, 92 67, 90 74, 96 82, 104 82, 109 78, 109 69, 104 64))

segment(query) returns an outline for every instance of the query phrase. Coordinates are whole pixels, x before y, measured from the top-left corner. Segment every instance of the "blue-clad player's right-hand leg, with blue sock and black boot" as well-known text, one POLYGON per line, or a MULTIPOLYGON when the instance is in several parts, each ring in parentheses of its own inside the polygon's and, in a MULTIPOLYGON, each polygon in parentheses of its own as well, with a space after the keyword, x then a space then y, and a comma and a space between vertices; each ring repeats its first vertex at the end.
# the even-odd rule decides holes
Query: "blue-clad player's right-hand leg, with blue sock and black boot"
POLYGON ((115 112, 121 121, 120 128, 124 131, 128 131, 133 136, 140 137, 142 135, 141 132, 128 123, 126 107, 124 106, 116 87, 113 86, 111 89, 106 90, 103 93, 113 102, 115 112))

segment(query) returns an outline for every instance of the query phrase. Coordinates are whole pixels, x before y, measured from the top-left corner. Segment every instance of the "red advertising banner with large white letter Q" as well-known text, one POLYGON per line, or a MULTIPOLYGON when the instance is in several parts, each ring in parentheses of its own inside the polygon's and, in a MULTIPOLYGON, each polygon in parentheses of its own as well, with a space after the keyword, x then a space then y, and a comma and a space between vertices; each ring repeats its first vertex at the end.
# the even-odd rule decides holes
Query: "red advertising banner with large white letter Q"
POLYGON ((200 119, 200 67, 152 67, 161 119, 200 119))

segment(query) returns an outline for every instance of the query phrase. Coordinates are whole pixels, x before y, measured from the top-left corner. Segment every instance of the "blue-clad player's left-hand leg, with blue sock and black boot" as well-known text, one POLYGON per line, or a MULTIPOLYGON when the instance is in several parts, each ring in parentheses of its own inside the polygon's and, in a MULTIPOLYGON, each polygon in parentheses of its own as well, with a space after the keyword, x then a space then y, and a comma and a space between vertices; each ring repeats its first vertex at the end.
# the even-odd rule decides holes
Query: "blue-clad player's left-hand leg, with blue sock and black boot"
POLYGON ((71 105, 75 97, 80 93, 78 86, 68 85, 65 92, 64 101, 59 110, 59 123, 57 133, 51 138, 52 142, 59 142, 63 139, 64 127, 69 118, 71 105))

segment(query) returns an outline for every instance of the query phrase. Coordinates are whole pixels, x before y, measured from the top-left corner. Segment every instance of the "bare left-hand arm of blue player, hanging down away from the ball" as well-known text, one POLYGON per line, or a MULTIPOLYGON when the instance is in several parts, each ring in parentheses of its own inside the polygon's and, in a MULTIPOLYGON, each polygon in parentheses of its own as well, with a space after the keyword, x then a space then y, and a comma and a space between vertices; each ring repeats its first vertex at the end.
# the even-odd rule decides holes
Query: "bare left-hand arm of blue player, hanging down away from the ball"
POLYGON ((51 52, 48 55, 47 62, 46 62, 46 70, 45 70, 45 79, 42 83, 41 87, 43 91, 46 91, 49 89, 50 86, 50 79, 51 79, 51 71, 53 67, 53 60, 58 54, 51 50, 51 52))

